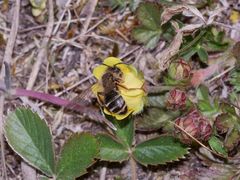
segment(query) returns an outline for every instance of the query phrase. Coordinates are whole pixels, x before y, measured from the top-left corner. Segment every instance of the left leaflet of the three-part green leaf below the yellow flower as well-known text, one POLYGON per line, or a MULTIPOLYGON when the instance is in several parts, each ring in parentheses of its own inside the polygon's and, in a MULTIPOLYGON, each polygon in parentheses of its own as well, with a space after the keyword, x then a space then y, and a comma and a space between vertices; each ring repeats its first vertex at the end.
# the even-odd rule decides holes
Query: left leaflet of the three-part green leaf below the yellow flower
POLYGON ((112 162, 122 162, 128 159, 128 149, 107 134, 98 134, 100 142, 100 159, 112 162))

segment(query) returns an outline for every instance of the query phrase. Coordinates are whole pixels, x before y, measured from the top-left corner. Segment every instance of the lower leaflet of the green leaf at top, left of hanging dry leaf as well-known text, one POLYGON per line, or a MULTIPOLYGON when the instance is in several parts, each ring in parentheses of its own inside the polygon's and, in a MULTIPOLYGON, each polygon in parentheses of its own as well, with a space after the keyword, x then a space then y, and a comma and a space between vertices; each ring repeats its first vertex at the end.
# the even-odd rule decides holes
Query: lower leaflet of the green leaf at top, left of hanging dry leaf
POLYGON ((154 48, 161 35, 161 29, 151 30, 144 26, 136 27, 132 31, 132 36, 136 39, 139 43, 143 43, 146 45, 147 48, 154 48))

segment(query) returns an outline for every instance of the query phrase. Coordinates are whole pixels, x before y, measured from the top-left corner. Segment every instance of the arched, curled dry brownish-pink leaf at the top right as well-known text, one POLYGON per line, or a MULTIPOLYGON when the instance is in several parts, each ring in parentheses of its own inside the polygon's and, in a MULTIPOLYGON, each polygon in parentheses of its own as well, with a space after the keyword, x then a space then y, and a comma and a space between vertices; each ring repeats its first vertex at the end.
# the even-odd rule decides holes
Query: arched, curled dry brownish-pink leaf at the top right
POLYGON ((161 21, 162 24, 165 24, 168 22, 174 15, 183 13, 185 16, 196 16, 198 17, 203 23, 206 23, 203 15, 201 12, 195 8, 194 6, 189 6, 189 5, 177 5, 177 6, 172 6, 169 8, 166 8, 162 15, 161 15, 161 21))

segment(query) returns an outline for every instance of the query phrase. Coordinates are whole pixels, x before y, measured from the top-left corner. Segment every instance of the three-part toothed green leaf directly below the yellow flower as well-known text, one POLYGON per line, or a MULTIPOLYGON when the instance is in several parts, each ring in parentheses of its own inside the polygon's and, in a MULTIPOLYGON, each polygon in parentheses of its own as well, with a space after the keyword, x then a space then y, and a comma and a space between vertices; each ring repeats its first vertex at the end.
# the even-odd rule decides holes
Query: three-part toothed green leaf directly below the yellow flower
POLYGON ((114 136, 98 134, 100 159, 110 162, 123 162, 129 158, 147 165, 166 164, 183 158, 187 147, 172 136, 160 136, 133 144, 134 121, 131 119, 114 121, 117 131, 114 136))

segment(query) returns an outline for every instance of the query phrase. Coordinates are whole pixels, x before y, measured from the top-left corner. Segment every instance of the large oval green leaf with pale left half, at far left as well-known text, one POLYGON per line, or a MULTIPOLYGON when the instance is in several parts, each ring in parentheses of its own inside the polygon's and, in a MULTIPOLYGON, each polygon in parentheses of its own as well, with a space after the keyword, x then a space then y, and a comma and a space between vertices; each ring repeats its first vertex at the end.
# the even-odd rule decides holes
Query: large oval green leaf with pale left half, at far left
POLYGON ((30 109, 18 108, 6 119, 5 136, 9 145, 25 161, 48 176, 53 176, 52 136, 44 120, 30 109))

